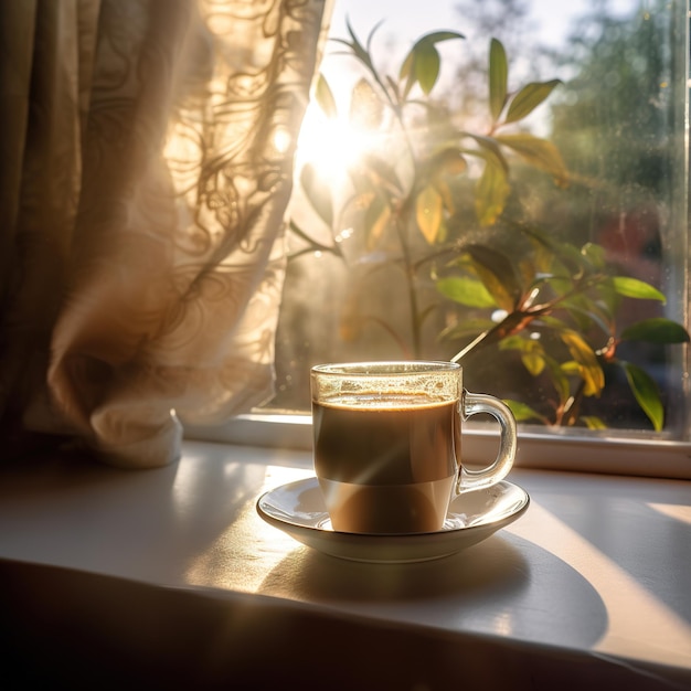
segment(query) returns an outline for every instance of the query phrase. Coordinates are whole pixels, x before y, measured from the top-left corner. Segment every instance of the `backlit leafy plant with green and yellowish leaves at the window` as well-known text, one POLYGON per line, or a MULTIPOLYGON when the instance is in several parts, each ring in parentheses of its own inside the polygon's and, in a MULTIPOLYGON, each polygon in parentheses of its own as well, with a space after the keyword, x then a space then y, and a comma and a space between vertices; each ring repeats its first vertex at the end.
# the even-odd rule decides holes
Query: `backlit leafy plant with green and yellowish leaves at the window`
MULTIPOLYGON (((642 368, 621 359, 620 346, 688 342, 689 334, 660 316, 623 326, 619 311, 624 300, 663 302, 665 295, 620 275, 598 244, 577 245, 541 227, 521 205, 515 181, 525 178, 525 170, 546 173, 567 193, 571 176, 559 150, 524 127, 560 81, 510 92, 506 51, 492 39, 488 121, 471 130, 459 127, 445 103, 432 97, 442 64, 437 46, 460 41, 461 34, 423 35, 395 76, 374 64, 374 31, 364 45, 350 26, 349 34, 339 42, 364 72, 351 93, 351 124, 379 132, 383 143, 349 167, 352 193, 338 208, 330 181, 309 163, 300 182, 332 238, 342 230, 343 215, 354 213, 361 251, 379 251, 385 264, 401 270, 410 338, 385 317, 368 316, 358 300, 347 319, 360 326, 375 320, 412 357, 425 357, 423 334, 429 328, 437 343, 458 351, 450 358, 455 361, 487 355, 490 349, 514 353, 530 376, 551 390, 539 405, 530 392, 528 400, 509 400, 519 421, 606 426, 599 416, 583 414, 582 405, 603 393, 605 370, 618 368, 652 427, 661 429, 657 384, 642 368), (434 322, 439 313, 442 326, 434 322)), ((338 117, 323 77, 316 94, 326 116, 338 117)), ((296 221, 291 227, 307 249, 349 261, 336 241, 318 243, 296 221)))

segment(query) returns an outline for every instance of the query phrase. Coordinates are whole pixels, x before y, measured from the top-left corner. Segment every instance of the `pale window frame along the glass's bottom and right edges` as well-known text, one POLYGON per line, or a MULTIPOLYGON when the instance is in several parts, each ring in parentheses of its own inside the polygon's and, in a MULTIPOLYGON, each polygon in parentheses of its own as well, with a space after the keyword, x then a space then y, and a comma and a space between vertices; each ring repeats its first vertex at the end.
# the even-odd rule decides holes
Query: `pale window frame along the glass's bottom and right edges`
MULTIPOLYGON (((679 64, 682 74, 690 75, 691 49, 691 2, 684 0, 678 8, 679 15, 687 17, 687 31, 683 42, 674 46, 673 61, 679 64), (681 45, 683 43, 683 45, 681 45), (683 51, 683 53, 682 53, 683 51)), ((681 82, 681 79, 680 79, 681 82)), ((678 308, 683 315, 687 329, 691 326, 691 204, 689 171, 689 103, 691 79, 687 88, 680 85, 683 95, 676 109, 683 123, 683 169, 685 184, 680 185, 682 200, 676 209, 683 209, 685 217, 677 219, 676 225, 685 224, 685 236, 679 233, 674 241, 672 255, 677 264, 672 270, 682 276, 682 305, 678 308), (685 297, 685 304, 683 299, 685 297)), ((691 411, 691 374, 689 346, 681 346, 678 355, 683 371, 682 396, 684 408, 691 411)), ((515 465, 523 468, 540 468, 594 474, 613 474, 650 478, 691 480, 691 421, 682 419, 677 437, 670 433, 625 430, 578 430, 546 429, 538 425, 519 425, 519 449, 515 465)), ((291 411, 264 411, 255 408, 216 427, 184 426, 184 437, 232 445, 256 447, 283 447, 286 449, 311 450, 311 418, 308 413, 291 411)), ((464 424, 464 460, 469 464, 487 463, 492 457, 497 443, 497 429, 491 424, 464 424)))

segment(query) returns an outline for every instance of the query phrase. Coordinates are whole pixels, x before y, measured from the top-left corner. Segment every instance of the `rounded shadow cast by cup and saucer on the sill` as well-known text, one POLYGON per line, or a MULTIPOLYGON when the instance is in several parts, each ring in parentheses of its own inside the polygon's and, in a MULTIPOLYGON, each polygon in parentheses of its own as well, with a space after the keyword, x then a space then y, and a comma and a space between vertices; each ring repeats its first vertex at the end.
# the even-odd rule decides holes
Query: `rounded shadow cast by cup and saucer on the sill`
POLYGON ((269 596, 296 596, 348 614, 588 648, 606 607, 572 566, 502 533, 458 554, 414 564, 366 564, 299 548, 264 580, 269 596))

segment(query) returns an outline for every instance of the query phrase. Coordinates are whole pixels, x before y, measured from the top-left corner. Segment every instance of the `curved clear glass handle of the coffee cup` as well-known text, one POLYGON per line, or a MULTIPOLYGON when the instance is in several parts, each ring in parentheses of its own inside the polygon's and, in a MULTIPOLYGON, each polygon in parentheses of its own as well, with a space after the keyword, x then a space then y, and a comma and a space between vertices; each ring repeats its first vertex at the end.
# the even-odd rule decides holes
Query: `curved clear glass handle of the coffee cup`
POLYGON ((468 490, 490 487, 507 477, 513 466, 518 445, 513 413, 511 413, 511 408, 499 398, 488 394, 470 393, 464 390, 459 412, 464 421, 478 413, 489 413, 499 423, 500 437, 497 458, 495 458, 495 463, 490 466, 481 470, 466 470, 461 464, 458 480, 456 481, 457 495, 468 490))

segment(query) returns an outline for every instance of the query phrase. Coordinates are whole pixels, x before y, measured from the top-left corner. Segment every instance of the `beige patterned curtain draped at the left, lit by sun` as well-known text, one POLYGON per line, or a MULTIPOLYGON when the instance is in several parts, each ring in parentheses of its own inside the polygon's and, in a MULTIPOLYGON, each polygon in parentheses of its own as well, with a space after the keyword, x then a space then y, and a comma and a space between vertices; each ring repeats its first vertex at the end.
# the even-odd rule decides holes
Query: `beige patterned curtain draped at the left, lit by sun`
POLYGON ((270 395, 284 213, 328 4, 0 3, 6 453, 39 433, 160 466, 179 419, 270 395))

